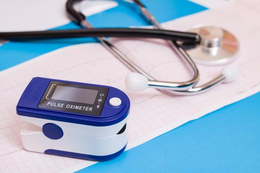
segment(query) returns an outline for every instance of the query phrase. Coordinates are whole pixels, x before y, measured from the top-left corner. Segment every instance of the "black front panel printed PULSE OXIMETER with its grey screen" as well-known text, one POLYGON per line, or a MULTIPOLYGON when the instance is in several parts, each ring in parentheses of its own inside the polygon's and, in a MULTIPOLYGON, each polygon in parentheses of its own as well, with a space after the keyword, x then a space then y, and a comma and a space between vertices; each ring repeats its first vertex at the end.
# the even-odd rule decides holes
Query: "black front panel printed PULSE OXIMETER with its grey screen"
POLYGON ((52 81, 38 107, 100 116, 107 92, 106 87, 52 81))

